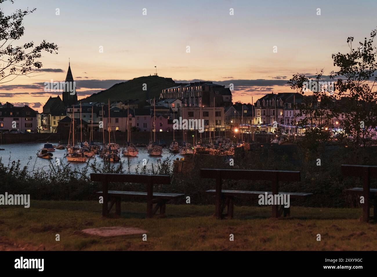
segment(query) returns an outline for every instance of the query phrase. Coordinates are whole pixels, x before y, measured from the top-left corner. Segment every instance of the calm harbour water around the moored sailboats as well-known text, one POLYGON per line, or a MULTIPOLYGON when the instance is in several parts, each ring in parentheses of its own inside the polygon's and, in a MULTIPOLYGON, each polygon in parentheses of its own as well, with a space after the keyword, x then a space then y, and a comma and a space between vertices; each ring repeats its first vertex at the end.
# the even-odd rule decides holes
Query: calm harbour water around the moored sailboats
MULTIPOLYGON (((58 145, 58 143, 52 143, 52 144, 58 145)), ((37 152, 38 150, 43 148, 43 145, 44 143, 17 143, 17 144, 0 145, 0 149, 1 148, 5 149, 5 151, 0 151, 0 157, 2 158, 2 163, 7 165, 9 157, 11 157, 11 161, 20 160, 21 166, 25 166, 28 163, 29 158, 32 157, 31 161, 29 162, 30 169, 32 169, 32 167, 34 166, 34 163, 35 163, 35 169, 48 166, 49 161, 47 159, 37 157, 37 152)), ((121 156, 121 161, 124 163, 124 167, 126 169, 127 169, 127 159, 130 160, 131 172, 135 172, 135 167, 137 166, 138 161, 140 161, 142 165, 143 159, 146 159, 148 161, 147 167, 152 167, 152 164, 153 165, 157 164, 158 159, 164 160, 164 158, 169 157, 169 156, 173 157, 173 159, 184 157, 179 154, 170 153, 168 148, 163 148, 162 156, 160 157, 149 156, 146 147, 138 147, 138 149, 139 149, 138 157, 121 156)), ((55 158, 58 158, 60 159, 60 162, 63 164, 69 163, 64 158, 64 154, 66 153, 67 153, 66 149, 64 150, 55 149, 55 152, 52 152, 54 156, 52 157, 51 161, 55 162, 55 158)), ((97 163, 103 163, 103 160, 97 155, 88 159, 87 163, 92 163, 94 158, 96 158, 97 163)), ((79 167, 79 168, 86 166, 86 163, 69 163, 69 164, 72 167, 79 167)))

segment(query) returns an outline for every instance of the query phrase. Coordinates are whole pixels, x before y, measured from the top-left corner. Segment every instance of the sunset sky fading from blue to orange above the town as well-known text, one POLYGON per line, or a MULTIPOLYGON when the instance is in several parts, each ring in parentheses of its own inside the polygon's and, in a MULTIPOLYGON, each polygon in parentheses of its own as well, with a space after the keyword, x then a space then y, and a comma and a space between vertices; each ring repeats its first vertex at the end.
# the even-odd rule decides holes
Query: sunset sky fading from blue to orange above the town
POLYGON ((50 95, 61 96, 45 92, 44 82, 64 81, 69 59, 78 99, 153 75, 155 66, 159 76, 176 82, 234 84, 234 102, 255 102, 272 91, 291 92, 287 80, 293 74, 313 76, 324 68, 329 75, 336 69, 331 55, 349 51, 347 37, 362 41, 376 28, 377 1, 355 3, 6 1, 0 4, 6 15, 37 8, 25 17, 25 35, 13 44, 46 40, 59 49, 57 55, 42 54, 44 72, 0 84, 0 102, 30 105, 41 112, 50 95))

